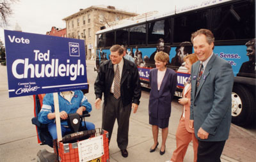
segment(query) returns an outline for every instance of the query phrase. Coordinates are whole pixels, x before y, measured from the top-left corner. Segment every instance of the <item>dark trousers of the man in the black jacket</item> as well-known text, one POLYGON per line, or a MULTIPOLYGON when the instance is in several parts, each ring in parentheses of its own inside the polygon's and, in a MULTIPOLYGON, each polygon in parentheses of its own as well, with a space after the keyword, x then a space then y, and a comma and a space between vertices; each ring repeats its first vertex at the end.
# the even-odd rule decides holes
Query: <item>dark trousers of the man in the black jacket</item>
MULTIPOLYGON (((132 103, 131 103, 132 104, 132 103)), ((111 139, 115 121, 118 123, 117 144, 120 149, 127 149, 129 119, 131 115, 131 104, 122 107, 122 99, 114 98, 113 94, 108 96, 107 104, 104 103, 102 111, 102 128, 108 131, 109 141, 111 139)))

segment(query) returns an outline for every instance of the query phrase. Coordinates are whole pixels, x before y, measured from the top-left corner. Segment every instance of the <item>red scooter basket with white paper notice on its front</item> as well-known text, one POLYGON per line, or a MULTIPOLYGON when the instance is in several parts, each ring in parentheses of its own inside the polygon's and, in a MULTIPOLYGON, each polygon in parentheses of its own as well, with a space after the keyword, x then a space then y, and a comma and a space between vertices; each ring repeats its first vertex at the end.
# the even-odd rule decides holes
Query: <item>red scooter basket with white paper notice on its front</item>
MULTIPOLYGON (((91 144, 90 143, 90 144, 91 144)), ((91 147, 91 149, 96 147, 97 145, 94 145, 91 147)), ((98 146, 97 146, 98 147, 98 146)), ((80 161, 87 161, 86 159, 90 159, 88 161, 95 161, 95 162, 109 162, 109 148, 108 148, 108 131, 105 131, 104 129, 93 129, 90 131, 81 131, 77 133, 72 133, 68 137, 64 136, 63 140, 58 142, 58 158, 61 162, 79 162, 80 161), (87 134, 86 134, 87 133, 87 134), (84 136, 87 136, 88 139, 84 139, 84 136), (96 139, 97 138, 97 139, 96 139), (90 152, 89 147, 81 147, 81 143, 91 142, 92 140, 98 140, 100 138, 102 141, 103 138, 103 144, 100 149, 104 150, 104 152, 101 152, 102 156, 98 156, 98 158, 92 159, 92 154, 88 153, 90 152), (80 148, 80 150, 79 150, 80 148), (79 152, 80 151, 80 152, 79 152), (79 154, 83 153, 83 157, 79 157, 79 154), (87 158, 84 158, 84 154, 88 154, 87 158), (90 157, 89 157, 90 156, 90 157)))

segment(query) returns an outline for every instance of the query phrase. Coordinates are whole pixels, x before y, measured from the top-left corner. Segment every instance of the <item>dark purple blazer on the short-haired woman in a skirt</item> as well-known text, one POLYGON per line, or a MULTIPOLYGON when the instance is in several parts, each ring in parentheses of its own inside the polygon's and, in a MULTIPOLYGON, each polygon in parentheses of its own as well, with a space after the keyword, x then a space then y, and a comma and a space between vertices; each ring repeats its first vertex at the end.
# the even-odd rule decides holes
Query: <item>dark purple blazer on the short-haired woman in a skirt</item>
POLYGON ((168 118, 171 115, 172 99, 177 87, 177 73, 167 68, 159 91, 157 90, 157 69, 150 70, 150 96, 148 114, 157 119, 168 118))

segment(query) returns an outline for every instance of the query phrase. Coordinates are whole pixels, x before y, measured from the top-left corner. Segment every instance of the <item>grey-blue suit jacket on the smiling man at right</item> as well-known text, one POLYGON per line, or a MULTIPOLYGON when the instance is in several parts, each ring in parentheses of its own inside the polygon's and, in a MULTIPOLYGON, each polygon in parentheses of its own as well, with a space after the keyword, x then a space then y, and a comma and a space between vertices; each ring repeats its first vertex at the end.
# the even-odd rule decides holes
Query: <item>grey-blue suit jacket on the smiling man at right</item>
MULTIPOLYGON (((196 91, 196 77, 200 61, 191 69, 190 119, 194 120, 195 135, 202 127, 209 133, 204 141, 227 140, 231 122, 231 94, 234 74, 231 65, 212 55, 196 91)), ((198 138, 198 140, 202 140, 198 138)))

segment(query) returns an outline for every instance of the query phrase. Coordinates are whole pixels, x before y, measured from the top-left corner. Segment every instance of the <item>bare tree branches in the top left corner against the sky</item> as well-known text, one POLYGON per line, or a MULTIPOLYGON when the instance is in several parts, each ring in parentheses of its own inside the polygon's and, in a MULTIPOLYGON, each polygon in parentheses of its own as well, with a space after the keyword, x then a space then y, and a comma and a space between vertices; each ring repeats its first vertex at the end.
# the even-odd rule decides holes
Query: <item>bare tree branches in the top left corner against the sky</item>
POLYGON ((8 24, 7 18, 12 15, 11 4, 19 0, 0 0, 0 27, 8 24))

